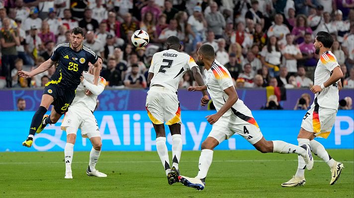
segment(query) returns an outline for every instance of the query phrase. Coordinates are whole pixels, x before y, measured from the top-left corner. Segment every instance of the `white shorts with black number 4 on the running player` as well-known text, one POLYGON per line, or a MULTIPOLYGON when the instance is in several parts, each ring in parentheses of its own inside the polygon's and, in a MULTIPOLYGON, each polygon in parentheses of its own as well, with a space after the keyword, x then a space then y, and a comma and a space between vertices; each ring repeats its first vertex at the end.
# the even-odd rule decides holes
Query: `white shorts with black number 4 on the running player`
POLYGON ((219 144, 229 139, 235 133, 245 138, 252 145, 256 144, 263 137, 260 127, 253 118, 251 110, 246 108, 238 109, 234 114, 222 116, 210 131, 208 137, 215 138, 219 144))

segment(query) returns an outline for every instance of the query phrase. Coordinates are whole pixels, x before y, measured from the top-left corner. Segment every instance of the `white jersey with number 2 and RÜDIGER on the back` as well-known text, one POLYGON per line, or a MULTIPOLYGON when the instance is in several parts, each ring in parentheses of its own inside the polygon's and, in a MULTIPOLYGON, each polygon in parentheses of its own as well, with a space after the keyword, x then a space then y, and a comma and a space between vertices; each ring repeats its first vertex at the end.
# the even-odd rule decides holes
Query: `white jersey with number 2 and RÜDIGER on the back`
POLYGON ((154 73, 150 87, 161 85, 177 92, 178 83, 183 74, 197 67, 194 59, 186 53, 168 49, 154 54, 149 72, 154 73))

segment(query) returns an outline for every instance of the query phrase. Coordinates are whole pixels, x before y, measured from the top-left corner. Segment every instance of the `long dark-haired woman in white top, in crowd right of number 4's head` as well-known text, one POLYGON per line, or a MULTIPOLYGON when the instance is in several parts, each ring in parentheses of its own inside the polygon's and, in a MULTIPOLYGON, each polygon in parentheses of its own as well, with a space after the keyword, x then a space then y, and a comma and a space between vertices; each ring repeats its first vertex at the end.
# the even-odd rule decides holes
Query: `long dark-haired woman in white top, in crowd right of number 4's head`
POLYGON ((261 62, 269 68, 270 76, 277 76, 280 66, 281 52, 276 44, 275 36, 269 37, 268 43, 261 51, 261 62))

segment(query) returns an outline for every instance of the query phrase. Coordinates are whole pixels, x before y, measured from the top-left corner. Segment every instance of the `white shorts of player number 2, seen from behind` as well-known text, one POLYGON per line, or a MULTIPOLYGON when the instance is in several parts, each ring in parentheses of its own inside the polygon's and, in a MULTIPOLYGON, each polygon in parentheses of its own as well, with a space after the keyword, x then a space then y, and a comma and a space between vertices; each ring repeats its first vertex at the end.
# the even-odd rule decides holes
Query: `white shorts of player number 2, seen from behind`
POLYGON ((146 97, 146 110, 154 124, 181 124, 177 93, 165 87, 150 88, 146 97))

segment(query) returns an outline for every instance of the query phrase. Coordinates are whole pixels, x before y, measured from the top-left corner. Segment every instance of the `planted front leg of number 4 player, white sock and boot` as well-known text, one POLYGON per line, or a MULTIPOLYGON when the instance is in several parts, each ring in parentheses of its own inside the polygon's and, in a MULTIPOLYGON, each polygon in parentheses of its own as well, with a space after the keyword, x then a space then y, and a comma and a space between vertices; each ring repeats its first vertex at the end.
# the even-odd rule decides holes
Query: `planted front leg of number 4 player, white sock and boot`
POLYGON ((179 176, 179 181, 187 187, 195 188, 197 190, 203 190, 205 186, 205 178, 208 173, 209 167, 213 160, 213 150, 219 142, 212 137, 207 137, 201 144, 201 153, 199 157, 199 172, 195 178, 189 178, 185 176, 179 176))

